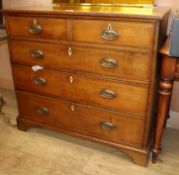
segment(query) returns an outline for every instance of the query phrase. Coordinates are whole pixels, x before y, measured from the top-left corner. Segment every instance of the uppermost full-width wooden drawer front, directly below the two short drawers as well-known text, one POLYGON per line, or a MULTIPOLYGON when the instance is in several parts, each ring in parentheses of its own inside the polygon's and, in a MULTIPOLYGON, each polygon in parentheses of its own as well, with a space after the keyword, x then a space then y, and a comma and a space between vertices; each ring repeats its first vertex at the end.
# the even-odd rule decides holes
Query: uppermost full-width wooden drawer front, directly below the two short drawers
POLYGON ((149 80, 150 54, 15 40, 10 46, 14 62, 149 80))

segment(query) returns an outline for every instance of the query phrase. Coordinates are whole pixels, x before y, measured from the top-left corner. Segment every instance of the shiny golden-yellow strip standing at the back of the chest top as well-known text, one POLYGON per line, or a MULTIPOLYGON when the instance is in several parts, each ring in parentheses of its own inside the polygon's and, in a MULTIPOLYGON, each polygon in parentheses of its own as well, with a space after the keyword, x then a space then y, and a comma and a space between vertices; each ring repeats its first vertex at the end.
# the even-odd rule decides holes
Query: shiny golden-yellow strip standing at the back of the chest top
POLYGON ((54 4, 153 6, 154 0, 53 0, 54 4))

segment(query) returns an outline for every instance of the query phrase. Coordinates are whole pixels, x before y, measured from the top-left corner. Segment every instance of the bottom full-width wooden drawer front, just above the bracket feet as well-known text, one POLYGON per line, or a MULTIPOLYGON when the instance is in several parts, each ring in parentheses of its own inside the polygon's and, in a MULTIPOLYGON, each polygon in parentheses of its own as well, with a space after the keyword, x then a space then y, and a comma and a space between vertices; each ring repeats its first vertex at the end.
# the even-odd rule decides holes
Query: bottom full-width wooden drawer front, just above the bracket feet
POLYGON ((142 119, 20 92, 17 99, 20 117, 25 119, 112 142, 142 144, 142 119))

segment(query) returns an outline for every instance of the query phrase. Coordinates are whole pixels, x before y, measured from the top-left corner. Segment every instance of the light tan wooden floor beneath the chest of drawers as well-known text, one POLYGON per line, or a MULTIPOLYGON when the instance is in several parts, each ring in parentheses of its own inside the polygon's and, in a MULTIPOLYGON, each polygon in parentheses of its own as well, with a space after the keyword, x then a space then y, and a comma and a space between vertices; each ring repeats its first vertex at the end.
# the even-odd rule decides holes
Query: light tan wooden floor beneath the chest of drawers
MULTIPOLYGON (((148 167, 131 162, 111 147, 84 141, 47 129, 19 131, 15 95, 1 90, 3 111, 9 126, 0 120, 0 175, 178 175, 179 130, 165 130, 162 153, 157 164, 148 167)), ((1 115, 2 119, 2 115, 1 115)))

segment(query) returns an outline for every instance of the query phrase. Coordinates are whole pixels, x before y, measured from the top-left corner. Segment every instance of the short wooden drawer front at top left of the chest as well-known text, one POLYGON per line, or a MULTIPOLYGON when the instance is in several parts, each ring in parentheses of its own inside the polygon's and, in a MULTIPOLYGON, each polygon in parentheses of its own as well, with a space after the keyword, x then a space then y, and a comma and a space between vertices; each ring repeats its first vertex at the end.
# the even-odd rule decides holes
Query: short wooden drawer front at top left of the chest
POLYGON ((67 39, 65 19, 42 17, 7 17, 8 33, 13 37, 36 39, 67 39))

